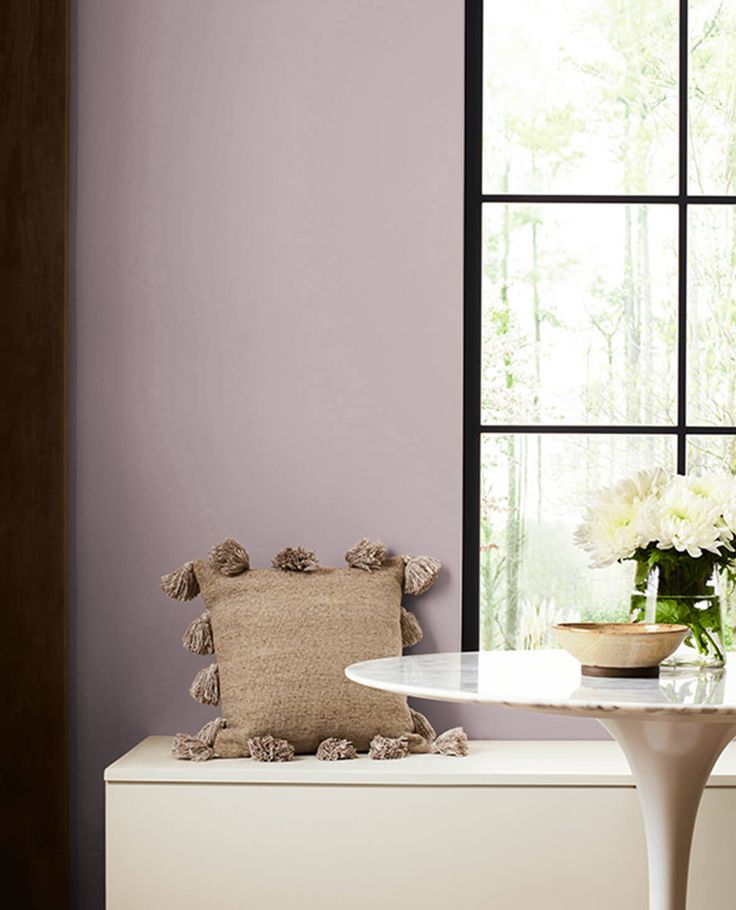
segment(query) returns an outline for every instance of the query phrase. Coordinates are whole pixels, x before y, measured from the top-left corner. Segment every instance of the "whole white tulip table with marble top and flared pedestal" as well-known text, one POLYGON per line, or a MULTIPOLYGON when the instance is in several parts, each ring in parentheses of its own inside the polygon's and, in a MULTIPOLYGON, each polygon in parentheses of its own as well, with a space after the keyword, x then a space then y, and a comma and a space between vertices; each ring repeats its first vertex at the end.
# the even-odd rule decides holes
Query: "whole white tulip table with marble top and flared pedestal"
MULTIPOLYGON (((440 701, 596 717, 628 758, 644 815, 649 910, 686 910, 700 798, 736 736, 736 674, 662 670, 658 679, 583 678, 564 651, 417 654, 353 664, 354 682, 440 701)), ((732 836, 732 832, 724 832, 732 836)))

